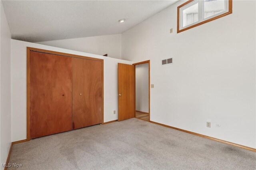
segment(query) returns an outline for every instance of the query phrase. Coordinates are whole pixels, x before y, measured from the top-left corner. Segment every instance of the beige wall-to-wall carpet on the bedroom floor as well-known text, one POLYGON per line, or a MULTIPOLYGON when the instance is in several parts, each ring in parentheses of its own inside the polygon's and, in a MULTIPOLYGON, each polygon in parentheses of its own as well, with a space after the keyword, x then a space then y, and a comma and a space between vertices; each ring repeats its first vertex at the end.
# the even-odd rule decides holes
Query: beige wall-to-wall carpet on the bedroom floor
POLYGON ((23 164, 17 169, 255 170, 256 152, 134 118, 14 144, 10 163, 23 164))

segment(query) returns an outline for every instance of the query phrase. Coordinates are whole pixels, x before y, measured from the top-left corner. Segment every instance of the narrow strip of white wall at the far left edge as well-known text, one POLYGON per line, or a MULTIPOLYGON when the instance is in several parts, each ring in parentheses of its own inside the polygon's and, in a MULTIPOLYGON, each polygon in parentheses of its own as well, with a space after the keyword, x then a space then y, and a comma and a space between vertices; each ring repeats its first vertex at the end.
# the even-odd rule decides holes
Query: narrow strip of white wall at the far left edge
MULTIPOLYGON (((0 164, 11 145, 11 34, 0 1, 0 164)), ((0 165, 1 166, 1 165, 0 165)), ((3 167, 1 166, 1 169, 3 167)))

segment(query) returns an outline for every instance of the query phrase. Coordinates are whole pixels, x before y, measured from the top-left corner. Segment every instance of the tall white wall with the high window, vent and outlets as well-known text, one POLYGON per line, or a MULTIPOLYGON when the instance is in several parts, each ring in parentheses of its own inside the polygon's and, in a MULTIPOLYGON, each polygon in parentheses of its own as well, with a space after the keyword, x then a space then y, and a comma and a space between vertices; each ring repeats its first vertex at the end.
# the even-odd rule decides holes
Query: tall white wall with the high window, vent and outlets
POLYGON ((256 148, 256 2, 177 34, 183 2, 122 34, 122 59, 150 59, 150 120, 256 148))

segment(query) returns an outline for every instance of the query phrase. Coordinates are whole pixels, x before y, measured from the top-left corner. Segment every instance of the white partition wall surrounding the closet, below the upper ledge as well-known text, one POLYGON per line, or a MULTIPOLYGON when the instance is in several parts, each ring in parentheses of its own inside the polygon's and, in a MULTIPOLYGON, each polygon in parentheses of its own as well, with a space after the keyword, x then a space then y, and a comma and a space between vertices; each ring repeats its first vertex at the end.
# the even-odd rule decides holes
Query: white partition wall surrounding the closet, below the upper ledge
POLYGON ((18 40, 11 40, 11 45, 12 141, 26 139, 26 47, 104 59, 104 122, 118 119, 117 63, 131 64, 131 61, 18 40))

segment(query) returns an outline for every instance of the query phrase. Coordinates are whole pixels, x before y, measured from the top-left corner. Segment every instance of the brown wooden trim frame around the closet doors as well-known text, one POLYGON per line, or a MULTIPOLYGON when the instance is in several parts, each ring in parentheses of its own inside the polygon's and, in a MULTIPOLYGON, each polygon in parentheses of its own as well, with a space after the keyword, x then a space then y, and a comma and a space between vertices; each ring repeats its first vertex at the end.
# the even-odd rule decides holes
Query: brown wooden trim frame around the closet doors
POLYGON ((62 55, 62 56, 66 56, 66 57, 75 57, 75 58, 101 61, 102 62, 102 117, 101 117, 101 123, 103 124, 103 121, 104 121, 104 59, 86 57, 86 56, 82 56, 82 55, 75 55, 75 54, 69 54, 69 53, 62 53, 62 52, 58 52, 58 51, 50 51, 50 50, 46 50, 46 49, 27 47, 27 139, 26 139, 26 141, 30 141, 30 51, 62 55))

